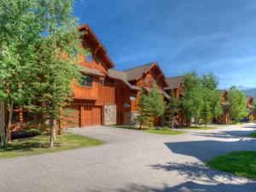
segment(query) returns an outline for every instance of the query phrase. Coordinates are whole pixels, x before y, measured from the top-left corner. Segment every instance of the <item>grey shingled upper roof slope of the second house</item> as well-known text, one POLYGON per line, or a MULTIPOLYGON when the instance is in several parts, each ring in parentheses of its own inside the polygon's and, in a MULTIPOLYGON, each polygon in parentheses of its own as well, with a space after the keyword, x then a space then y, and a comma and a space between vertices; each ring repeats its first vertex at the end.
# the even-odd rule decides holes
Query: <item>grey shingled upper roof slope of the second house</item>
POLYGON ((148 63, 143 66, 126 69, 124 72, 127 73, 128 81, 137 80, 142 77, 143 73, 147 73, 154 65, 155 63, 148 63))

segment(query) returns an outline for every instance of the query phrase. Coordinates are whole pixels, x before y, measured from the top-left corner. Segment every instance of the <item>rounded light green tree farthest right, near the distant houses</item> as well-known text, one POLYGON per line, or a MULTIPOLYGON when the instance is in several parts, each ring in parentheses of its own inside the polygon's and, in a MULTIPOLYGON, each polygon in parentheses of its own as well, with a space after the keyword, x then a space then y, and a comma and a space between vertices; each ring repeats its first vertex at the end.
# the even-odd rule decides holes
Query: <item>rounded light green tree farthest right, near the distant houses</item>
POLYGON ((230 119, 238 120, 247 117, 247 97, 244 92, 235 86, 230 88, 228 95, 230 119))

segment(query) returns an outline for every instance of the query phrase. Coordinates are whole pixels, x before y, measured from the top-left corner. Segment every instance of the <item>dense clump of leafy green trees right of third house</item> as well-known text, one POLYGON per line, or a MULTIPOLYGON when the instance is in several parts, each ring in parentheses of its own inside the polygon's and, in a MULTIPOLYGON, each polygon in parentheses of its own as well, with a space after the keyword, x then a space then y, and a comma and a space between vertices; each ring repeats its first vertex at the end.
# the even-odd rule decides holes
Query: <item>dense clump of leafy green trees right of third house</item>
POLYGON ((182 107, 187 121, 192 117, 195 123, 203 119, 205 125, 217 118, 223 110, 221 108, 221 95, 218 91, 218 79, 212 73, 201 77, 195 73, 184 76, 182 107))

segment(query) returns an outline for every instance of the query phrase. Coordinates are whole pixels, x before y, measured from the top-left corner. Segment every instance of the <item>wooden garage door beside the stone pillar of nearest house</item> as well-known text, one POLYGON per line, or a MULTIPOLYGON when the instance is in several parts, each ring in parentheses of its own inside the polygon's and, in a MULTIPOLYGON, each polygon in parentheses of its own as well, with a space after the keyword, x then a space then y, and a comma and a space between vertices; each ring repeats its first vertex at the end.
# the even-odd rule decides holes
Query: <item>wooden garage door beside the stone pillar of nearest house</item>
POLYGON ((84 106, 83 125, 102 125, 102 108, 96 106, 84 106))

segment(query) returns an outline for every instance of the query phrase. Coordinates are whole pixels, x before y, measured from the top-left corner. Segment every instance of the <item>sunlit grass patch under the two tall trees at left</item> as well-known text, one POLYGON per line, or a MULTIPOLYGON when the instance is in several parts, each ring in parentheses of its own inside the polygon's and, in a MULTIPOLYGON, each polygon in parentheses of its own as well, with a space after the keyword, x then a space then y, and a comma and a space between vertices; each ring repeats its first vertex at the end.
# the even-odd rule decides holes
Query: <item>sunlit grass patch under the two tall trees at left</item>
POLYGON ((0 149, 0 158, 44 154, 74 148, 85 148, 100 145, 102 143, 102 141, 90 137, 66 133, 56 137, 55 147, 49 148, 48 136, 22 138, 10 142, 6 151, 0 149))

